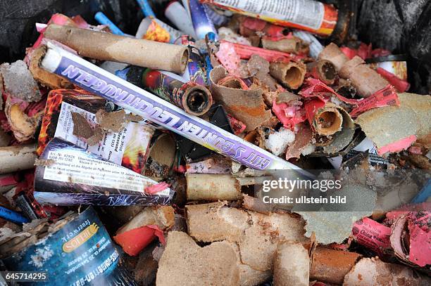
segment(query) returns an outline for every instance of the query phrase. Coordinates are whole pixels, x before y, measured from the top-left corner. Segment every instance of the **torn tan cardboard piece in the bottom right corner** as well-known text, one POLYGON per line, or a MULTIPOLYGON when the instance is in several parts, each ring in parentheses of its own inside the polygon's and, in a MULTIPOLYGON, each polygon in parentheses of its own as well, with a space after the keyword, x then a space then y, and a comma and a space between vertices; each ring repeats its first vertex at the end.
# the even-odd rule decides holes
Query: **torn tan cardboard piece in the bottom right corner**
POLYGON ((399 264, 389 264, 378 258, 363 258, 346 274, 344 286, 430 285, 431 278, 399 264))

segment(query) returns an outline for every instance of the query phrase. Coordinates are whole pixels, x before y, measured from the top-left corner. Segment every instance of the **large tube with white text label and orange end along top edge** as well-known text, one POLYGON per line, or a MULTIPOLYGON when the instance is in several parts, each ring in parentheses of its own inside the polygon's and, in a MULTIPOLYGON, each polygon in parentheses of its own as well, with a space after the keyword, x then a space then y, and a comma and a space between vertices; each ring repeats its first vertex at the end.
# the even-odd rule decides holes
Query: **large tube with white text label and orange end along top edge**
POLYGON ((330 35, 337 25, 338 11, 313 0, 200 0, 235 13, 260 18, 276 25, 330 35))

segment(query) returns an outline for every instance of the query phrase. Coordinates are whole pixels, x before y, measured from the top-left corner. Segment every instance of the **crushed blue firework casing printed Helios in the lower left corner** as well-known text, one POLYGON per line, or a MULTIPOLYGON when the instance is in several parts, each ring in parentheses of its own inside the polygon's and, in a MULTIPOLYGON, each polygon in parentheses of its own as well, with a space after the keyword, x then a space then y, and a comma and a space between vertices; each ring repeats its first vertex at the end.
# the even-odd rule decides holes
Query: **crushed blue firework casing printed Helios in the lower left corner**
POLYGON ((68 213, 53 224, 39 221, 37 226, 25 226, 23 234, 30 237, 15 241, 16 253, 2 257, 9 271, 45 271, 44 285, 135 285, 91 207, 81 214, 68 213))

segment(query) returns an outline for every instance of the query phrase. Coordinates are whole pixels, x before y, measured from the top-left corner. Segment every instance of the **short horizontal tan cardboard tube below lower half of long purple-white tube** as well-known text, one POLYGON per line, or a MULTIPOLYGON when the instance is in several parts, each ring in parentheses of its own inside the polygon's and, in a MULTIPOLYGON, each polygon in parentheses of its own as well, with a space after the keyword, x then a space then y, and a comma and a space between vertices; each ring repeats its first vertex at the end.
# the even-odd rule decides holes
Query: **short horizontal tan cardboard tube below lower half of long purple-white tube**
POLYGON ((241 185, 230 174, 186 174, 187 200, 240 200, 241 185))

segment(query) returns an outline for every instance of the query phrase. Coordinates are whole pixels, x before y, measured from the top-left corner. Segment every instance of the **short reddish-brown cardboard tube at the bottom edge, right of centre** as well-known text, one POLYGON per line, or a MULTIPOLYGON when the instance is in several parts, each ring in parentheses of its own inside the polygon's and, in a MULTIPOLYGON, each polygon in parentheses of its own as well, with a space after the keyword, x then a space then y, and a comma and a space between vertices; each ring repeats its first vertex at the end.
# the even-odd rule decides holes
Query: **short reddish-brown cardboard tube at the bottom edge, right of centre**
POLYGON ((341 285, 361 254, 316 247, 311 259, 310 279, 341 285))

